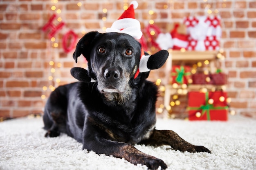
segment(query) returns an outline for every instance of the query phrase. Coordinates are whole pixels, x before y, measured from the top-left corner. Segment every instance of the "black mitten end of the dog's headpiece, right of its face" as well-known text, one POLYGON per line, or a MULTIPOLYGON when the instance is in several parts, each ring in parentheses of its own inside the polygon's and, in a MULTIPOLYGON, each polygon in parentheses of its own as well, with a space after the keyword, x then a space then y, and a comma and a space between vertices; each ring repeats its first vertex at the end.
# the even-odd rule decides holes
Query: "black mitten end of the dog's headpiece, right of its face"
POLYGON ((169 52, 167 50, 160 50, 148 58, 147 67, 149 70, 155 70, 162 67, 167 60, 169 52))

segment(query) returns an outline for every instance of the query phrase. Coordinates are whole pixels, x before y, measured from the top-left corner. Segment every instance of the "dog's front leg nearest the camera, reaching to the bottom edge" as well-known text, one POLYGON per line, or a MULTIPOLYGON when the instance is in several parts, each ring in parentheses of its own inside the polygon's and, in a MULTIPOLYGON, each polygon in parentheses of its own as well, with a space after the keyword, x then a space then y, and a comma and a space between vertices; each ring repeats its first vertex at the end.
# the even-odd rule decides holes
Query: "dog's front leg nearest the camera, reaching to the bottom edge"
POLYGON ((85 139, 83 149, 92 150, 97 154, 124 158, 135 165, 146 165, 149 169, 157 169, 159 166, 161 166, 162 169, 167 168, 166 164, 161 159, 147 155, 130 144, 115 142, 102 137, 95 136, 93 140, 92 138, 89 140, 85 139))

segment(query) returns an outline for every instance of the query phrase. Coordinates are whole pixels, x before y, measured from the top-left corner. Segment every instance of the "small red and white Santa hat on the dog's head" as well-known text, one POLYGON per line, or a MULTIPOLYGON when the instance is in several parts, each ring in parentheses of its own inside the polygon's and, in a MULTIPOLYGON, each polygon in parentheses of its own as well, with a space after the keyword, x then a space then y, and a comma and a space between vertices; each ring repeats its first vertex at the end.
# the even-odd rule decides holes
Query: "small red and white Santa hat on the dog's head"
POLYGON ((140 39, 142 36, 140 23, 135 19, 134 9, 137 9, 138 2, 132 1, 130 6, 122 15, 118 18, 117 21, 113 22, 110 28, 106 29, 107 33, 117 32, 117 33, 126 33, 134 37, 135 39, 140 39))

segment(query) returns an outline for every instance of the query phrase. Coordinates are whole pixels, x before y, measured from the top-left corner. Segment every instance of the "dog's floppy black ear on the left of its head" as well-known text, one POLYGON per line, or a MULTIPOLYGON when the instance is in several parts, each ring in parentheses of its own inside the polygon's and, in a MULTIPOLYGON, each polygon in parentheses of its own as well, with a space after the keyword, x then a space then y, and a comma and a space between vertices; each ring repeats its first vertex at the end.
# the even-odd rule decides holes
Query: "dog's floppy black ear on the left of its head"
POLYGON ((101 33, 97 31, 92 31, 85 34, 76 44, 76 50, 73 53, 73 58, 77 63, 77 57, 81 54, 86 58, 87 61, 90 60, 90 47, 92 46, 92 41, 98 37, 101 33))

